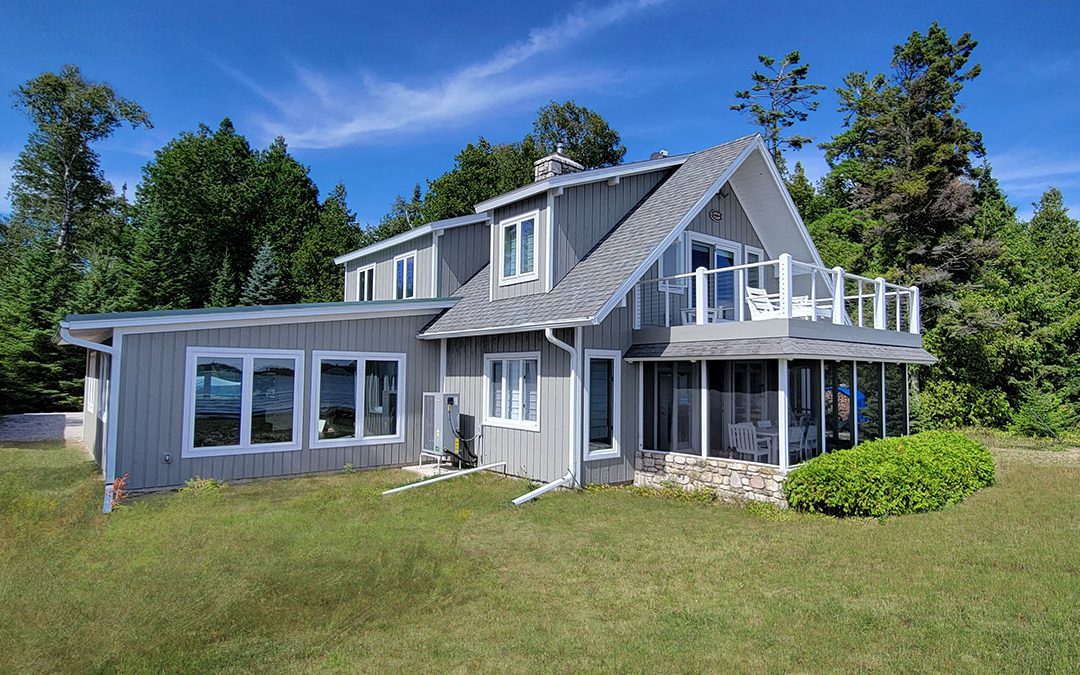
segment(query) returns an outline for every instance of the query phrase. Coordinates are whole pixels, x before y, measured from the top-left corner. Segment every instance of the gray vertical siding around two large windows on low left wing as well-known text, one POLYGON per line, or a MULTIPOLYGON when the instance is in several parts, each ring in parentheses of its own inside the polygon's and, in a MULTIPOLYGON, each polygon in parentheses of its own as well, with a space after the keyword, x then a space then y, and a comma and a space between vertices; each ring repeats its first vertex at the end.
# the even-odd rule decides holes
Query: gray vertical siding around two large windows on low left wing
POLYGON ((116 406, 117 471, 132 488, 180 485, 193 476, 224 480, 279 476, 417 461, 421 399, 438 378, 438 343, 415 339, 431 320, 399 316, 325 321, 172 333, 126 334, 116 406), (184 380, 188 347, 303 350, 303 396, 299 450, 181 458, 184 380), (311 352, 313 350, 404 352, 405 442, 343 448, 310 448, 311 352), (172 454, 172 462, 164 454, 172 454))

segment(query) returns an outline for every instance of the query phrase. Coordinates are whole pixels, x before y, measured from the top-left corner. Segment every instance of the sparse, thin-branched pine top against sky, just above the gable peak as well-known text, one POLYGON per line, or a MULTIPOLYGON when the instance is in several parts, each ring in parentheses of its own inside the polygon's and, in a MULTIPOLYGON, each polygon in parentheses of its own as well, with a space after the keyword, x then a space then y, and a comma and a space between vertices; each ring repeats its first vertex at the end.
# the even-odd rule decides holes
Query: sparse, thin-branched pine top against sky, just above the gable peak
POLYGON ((813 97, 825 86, 805 82, 810 75, 810 65, 799 63, 801 56, 798 51, 788 53, 780 63, 764 54, 757 60, 767 72, 755 70, 751 75, 753 86, 735 92, 735 98, 743 103, 731 106, 731 109, 748 112, 754 124, 761 127, 761 135, 772 160, 780 174, 786 175, 784 148, 798 150, 810 143, 811 138, 799 134, 784 134, 796 122, 806 122, 809 113, 818 109, 818 102, 813 97))

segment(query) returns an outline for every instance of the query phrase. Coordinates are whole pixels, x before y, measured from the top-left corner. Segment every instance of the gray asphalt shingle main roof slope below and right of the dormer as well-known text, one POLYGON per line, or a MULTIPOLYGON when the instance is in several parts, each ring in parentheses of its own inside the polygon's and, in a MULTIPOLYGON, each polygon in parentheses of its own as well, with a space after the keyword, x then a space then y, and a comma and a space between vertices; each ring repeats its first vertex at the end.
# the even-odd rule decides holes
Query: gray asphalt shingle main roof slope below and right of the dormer
MULTIPOLYGON (((490 265, 462 286, 461 300, 423 336, 525 328, 538 324, 593 321, 679 220, 732 165, 756 136, 745 136, 692 154, 585 255, 550 293, 489 300, 490 265)), ((712 197, 711 194, 708 197, 712 197)))

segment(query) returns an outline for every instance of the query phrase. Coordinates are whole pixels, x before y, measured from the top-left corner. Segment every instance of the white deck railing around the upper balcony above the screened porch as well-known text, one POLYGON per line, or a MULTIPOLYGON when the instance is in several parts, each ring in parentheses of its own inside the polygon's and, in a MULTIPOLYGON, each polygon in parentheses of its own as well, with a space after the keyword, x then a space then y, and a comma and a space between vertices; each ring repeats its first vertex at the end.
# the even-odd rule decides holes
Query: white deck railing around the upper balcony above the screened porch
POLYGON ((919 288, 793 260, 750 262, 634 286, 634 327, 802 319, 918 335, 919 288))

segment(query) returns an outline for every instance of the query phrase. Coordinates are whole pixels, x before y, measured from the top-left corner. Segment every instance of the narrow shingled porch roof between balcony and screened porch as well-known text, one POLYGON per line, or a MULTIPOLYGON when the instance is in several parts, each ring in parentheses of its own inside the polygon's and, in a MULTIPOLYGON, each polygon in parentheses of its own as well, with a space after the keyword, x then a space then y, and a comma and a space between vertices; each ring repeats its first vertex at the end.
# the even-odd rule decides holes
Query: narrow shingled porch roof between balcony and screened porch
POLYGON ((743 357, 824 359, 827 361, 851 359, 924 365, 937 362, 933 354, 921 347, 897 347, 797 337, 634 345, 626 351, 625 357, 627 361, 743 357))

